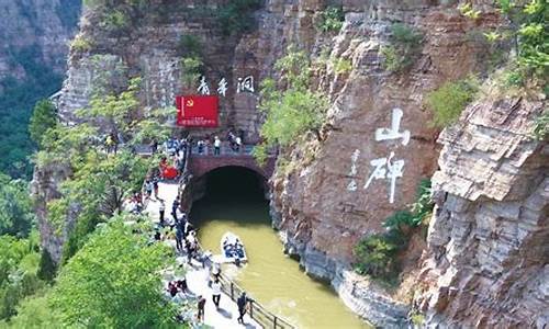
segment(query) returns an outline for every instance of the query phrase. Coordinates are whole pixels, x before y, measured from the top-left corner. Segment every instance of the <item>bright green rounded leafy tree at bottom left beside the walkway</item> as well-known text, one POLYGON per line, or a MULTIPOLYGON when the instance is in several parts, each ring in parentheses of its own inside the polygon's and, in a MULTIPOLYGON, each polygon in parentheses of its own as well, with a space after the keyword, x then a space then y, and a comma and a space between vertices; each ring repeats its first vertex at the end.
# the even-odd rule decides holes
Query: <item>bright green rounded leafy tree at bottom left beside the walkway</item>
POLYGON ((122 218, 96 232, 59 273, 52 295, 65 326, 158 328, 173 325, 158 271, 168 259, 163 245, 124 227, 122 218))

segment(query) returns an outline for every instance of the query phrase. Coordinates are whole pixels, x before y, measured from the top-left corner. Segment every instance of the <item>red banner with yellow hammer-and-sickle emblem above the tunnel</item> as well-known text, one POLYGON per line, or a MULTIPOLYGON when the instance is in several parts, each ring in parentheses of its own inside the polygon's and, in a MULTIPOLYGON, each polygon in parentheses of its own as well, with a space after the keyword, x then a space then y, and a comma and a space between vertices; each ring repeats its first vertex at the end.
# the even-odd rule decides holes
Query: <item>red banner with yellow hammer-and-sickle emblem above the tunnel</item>
POLYGON ((177 125, 212 128, 219 125, 220 101, 216 95, 186 95, 176 98, 177 125))

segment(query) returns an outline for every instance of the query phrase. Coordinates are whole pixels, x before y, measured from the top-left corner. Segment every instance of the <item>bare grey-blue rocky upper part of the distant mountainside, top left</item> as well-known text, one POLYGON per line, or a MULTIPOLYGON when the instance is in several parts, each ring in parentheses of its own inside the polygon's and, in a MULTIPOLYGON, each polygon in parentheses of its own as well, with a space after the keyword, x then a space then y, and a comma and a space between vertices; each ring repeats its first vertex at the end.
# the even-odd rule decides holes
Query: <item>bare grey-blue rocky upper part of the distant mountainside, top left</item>
POLYGON ((80 0, 1 0, 0 80, 9 76, 24 79, 29 72, 21 60, 37 59, 63 73, 80 3, 80 0))

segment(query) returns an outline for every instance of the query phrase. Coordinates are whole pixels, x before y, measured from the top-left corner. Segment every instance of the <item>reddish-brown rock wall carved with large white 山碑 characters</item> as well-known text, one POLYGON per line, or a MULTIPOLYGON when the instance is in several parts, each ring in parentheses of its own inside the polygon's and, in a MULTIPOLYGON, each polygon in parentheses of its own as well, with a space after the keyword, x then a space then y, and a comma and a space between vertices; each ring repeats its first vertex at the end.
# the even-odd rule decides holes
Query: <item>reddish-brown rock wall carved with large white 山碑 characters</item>
MULTIPOLYGON (((349 307, 377 326, 402 327, 408 310, 405 304, 346 272, 352 248, 361 237, 382 231, 384 219, 406 208, 419 181, 436 170, 437 132, 428 125, 424 97, 442 81, 483 71, 485 49, 470 42, 468 31, 498 22, 493 8, 480 2, 475 5, 484 14, 475 24, 459 14, 456 2, 343 4, 346 22, 338 35, 323 41, 314 34, 300 41, 305 45, 311 41, 312 53, 332 45, 330 56, 351 60, 352 69, 337 73, 328 66, 318 77, 333 100, 328 128, 323 141, 294 149, 290 158, 298 166, 290 172, 279 171, 273 179, 274 224, 287 251, 300 257, 309 274, 330 281, 349 307), (381 66, 380 47, 388 44, 394 22, 424 35, 419 58, 403 75, 391 75, 381 66), (388 135, 389 131, 394 134, 388 135), (311 152, 313 160, 307 159, 311 152), (378 168, 377 162, 384 164, 378 168)), ((303 1, 295 7, 300 22, 310 19, 310 32, 318 5, 303 1)))

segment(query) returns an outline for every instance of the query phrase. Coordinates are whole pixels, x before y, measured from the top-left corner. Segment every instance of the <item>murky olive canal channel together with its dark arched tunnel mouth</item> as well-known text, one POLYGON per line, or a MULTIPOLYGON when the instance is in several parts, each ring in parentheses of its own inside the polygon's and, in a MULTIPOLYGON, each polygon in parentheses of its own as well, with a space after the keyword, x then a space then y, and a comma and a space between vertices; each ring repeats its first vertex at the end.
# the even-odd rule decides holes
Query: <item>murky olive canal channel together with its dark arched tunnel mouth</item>
POLYGON ((225 265, 223 271, 272 313, 299 328, 367 328, 328 285, 306 276, 298 261, 283 254, 253 172, 232 167, 211 172, 206 195, 194 203, 191 220, 203 247, 214 253, 220 253, 227 230, 240 237, 249 263, 240 269, 225 265))

